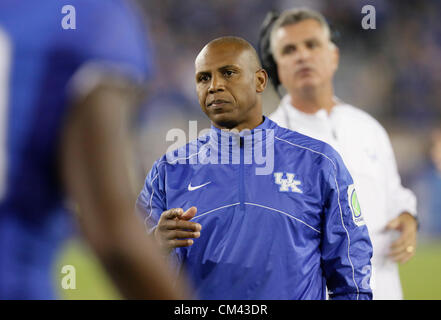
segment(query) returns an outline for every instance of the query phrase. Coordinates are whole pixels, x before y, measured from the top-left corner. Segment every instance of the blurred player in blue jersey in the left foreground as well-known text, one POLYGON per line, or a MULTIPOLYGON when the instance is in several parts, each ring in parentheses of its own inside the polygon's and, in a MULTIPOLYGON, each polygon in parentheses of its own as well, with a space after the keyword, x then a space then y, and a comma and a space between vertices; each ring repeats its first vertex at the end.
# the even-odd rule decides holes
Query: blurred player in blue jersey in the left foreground
POLYGON ((125 1, 1 1, 0 299, 55 298, 66 195, 124 297, 189 297, 133 215, 128 122, 151 73, 144 32, 125 1))

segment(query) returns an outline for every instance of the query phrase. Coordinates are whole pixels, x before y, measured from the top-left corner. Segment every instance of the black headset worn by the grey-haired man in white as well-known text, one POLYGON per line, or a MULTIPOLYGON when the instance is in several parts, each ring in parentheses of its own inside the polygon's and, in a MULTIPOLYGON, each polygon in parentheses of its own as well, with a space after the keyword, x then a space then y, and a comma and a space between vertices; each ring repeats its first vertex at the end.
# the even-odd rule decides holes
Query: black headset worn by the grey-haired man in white
MULTIPOLYGON (((277 11, 270 11, 266 14, 265 19, 260 27, 259 33, 259 58, 262 62, 262 67, 268 73, 271 83, 274 86, 277 94, 280 96, 279 86, 280 80, 277 73, 277 64, 271 53, 270 48, 270 38, 271 30, 273 28, 274 22, 279 18, 280 14, 277 11)), ((332 24, 329 24, 329 29, 331 30, 331 41, 333 43, 338 43, 340 40, 340 33, 332 24)))

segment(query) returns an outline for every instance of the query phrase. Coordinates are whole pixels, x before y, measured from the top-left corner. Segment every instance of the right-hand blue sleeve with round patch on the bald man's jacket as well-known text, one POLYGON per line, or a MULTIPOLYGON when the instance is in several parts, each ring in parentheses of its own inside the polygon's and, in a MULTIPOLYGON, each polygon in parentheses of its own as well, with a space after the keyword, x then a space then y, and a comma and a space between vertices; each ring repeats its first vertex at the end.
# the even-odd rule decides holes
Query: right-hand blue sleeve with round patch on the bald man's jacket
POLYGON ((333 300, 371 300, 372 243, 352 178, 340 156, 330 159, 325 191, 322 264, 333 300))

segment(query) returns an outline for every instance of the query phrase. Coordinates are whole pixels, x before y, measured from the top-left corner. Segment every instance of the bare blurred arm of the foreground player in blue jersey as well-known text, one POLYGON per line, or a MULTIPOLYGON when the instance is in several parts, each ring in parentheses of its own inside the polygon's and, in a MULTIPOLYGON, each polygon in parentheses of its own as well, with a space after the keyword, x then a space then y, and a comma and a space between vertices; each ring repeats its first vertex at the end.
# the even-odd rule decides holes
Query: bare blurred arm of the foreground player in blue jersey
POLYGON ((106 84, 74 102, 63 131, 60 166, 68 194, 79 206, 88 243, 125 298, 191 299, 176 285, 153 237, 133 213, 127 87, 106 84))

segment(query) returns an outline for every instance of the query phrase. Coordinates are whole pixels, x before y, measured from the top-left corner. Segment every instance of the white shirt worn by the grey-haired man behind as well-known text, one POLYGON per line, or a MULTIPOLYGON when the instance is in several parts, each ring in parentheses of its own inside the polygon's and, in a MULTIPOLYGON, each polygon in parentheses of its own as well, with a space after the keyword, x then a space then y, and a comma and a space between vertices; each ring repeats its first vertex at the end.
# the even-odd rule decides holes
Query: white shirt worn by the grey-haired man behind
MULTIPOLYGON (((336 99, 336 101, 338 101, 336 99)), ((299 111, 286 95, 270 119, 278 125, 322 140, 336 149, 357 189, 361 210, 371 237, 371 288, 374 299, 402 299, 398 265, 387 257, 399 235, 385 231, 402 212, 416 214, 415 195, 401 185, 395 156, 385 129, 366 112, 338 101, 331 112, 299 111)))

